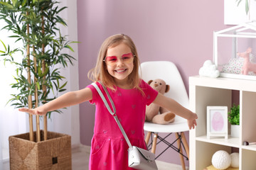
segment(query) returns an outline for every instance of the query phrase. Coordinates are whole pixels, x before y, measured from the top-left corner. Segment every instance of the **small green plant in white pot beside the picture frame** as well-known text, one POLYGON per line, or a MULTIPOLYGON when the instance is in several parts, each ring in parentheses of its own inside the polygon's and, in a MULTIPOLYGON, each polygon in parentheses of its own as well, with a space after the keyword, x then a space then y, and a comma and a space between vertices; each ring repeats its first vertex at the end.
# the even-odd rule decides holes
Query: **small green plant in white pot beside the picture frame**
POLYGON ((231 137, 239 137, 240 106, 233 104, 228 112, 228 122, 231 124, 231 137))

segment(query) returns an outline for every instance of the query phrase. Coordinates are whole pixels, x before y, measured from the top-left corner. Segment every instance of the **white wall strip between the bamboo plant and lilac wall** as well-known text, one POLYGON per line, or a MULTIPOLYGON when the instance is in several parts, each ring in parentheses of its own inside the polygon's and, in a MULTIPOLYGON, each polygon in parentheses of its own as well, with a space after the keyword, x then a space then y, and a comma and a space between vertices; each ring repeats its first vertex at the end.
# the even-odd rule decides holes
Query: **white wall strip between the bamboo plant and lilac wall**
MULTIPOLYGON (((61 28, 63 35, 68 35, 68 40, 78 41, 78 20, 77 20, 77 1, 61 0, 59 8, 68 6, 61 16, 65 19, 68 27, 61 28)), ((71 45, 75 52, 68 50, 69 54, 75 57, 76 61, 73 65, 69 64, 65 69, 61 69, 65 81, 67 91, 76 91, 79 89, 78 81, 78 43, 71 45)), ((63 81, 63 82, 65 82, 63 81)), ((62 109, 63 114, 53 113, 52 120, 48 120, 49 130, 52 128, 55 132, 61 132, 71 135, 72 145, 80 145, 80 120, 79 120, 79 106, 71 106, 67 109, 62 109)))

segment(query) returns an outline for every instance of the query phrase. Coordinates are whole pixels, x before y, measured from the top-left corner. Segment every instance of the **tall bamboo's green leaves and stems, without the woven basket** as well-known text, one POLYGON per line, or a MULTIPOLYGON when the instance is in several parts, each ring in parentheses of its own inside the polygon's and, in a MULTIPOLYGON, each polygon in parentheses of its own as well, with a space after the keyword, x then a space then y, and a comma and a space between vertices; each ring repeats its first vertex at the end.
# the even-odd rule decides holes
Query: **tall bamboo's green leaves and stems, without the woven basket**
MULTIPOLYGON (((67 24, 59 15, 67 7, 59 8, 58 3, 55 0, 0 0, 0 19, 6 21, 6 25, 0 27, 11 31, 10 38, 23 44, 23 47, 12 48, 0 40, 4 48, 0 50, 0 60, 16 65, 15 83, 11 87, 18 89, 18 94, 11 94, 9 100, 16 108, 36 108, 65 91, 67 81, 60 84, 65 77, 60 75, 59 67, 67 67, 68 62, 73 64, 75 58, 63 50, 73 51, 70 43, 74 41, 60 33, 60 25, 67 24), (49 95, 51 91, 53 95, 49 95)), ((61 113, 60 110, 55 112, 61 113)), ((47 140, 50 113, 43 117, 44 140, 47 140)), ((34 141, 32 115, 29 115, 29 127, 30 140, 34 141)), ((41 141, 39 127, 37 115, 37 142, 41 141)))

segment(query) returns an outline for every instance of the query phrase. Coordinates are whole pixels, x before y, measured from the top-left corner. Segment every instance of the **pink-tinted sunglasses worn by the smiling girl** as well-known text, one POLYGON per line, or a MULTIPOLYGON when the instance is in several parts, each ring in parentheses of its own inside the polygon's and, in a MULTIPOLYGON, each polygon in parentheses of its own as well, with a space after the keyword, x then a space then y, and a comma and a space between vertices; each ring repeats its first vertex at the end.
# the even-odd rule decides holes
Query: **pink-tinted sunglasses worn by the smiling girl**
MULTIPOLYGON (((125 64, 129 64, 133 62, 134 57, 135 55, 133 55, 132 52, 129 52, 127 54, 122 55, 121 60, 125 64)), ((109 66, 114 66, 115 64, 117 64, 118 59, 117 56, 107 56, 103 61, 106 62, 106 64, 109 66)))

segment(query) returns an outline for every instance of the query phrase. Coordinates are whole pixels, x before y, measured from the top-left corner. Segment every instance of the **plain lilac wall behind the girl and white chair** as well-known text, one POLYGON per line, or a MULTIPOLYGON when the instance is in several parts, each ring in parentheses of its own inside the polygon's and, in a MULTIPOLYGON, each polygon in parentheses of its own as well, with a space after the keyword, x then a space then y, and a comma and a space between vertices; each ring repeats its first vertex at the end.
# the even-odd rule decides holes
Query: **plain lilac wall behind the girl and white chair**
MULTIPOLYGON (((87 72, 94 67, 103 40, 124 33, 137 45, 141 62, 174 62, 188 91, 188 77, 197 75, 203 62, 213 58, 213 30, 228 28, 223 24, 223 8, 223 1, 213 0, 78 0, 80 89, 91 83, 87 72)), ((90 145, 94 111, 89 103, 80 104, 84 145, 90 145)), ((174 152, 159 159, 180 164, 174 152)))

